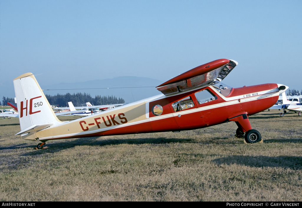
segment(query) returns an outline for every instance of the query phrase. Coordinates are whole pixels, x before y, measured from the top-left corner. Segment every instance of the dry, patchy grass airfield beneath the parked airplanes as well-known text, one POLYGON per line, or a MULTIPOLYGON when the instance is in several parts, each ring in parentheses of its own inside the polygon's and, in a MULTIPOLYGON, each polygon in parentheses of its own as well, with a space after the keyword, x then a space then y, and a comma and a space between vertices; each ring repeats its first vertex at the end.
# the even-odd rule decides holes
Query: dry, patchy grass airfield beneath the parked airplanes
MULTIPOLYGON (((302 201, 302 116, 250 116, 264 139, 244 144, 236 124, 38 142, 0 119, 1 201, 302 201)), ((69 116, 60 119, 74 119, 69 116)))

